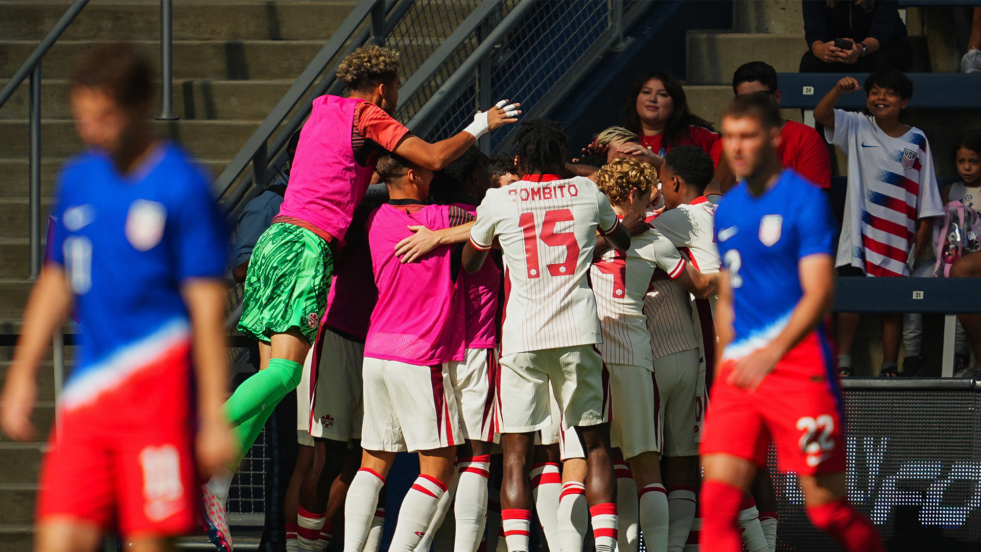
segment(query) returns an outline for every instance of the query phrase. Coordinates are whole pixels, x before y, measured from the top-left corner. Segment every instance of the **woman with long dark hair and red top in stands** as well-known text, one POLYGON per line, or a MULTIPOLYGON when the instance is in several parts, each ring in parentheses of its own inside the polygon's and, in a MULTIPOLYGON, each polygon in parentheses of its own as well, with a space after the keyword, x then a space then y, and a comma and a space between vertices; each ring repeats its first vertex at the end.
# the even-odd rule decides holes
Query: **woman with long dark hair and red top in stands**
POLYGON ((640 137, 641 145, 657 159, 676 145, 697 145, 719 163, 718 133, 692 113, 685 89, 666 71, 651 69, 631 84, 622 119, 623 127, 640 137))

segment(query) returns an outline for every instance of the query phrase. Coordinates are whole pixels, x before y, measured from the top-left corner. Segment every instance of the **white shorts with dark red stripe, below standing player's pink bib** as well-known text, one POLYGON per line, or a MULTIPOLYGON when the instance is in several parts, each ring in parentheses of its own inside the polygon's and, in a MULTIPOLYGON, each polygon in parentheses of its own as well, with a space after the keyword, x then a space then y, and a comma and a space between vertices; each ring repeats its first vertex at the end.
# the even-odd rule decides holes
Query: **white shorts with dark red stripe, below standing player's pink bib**
POLYGON ((449 363, 417 366, 364 359, 361 447, 416 452, 463 443, 449 363))

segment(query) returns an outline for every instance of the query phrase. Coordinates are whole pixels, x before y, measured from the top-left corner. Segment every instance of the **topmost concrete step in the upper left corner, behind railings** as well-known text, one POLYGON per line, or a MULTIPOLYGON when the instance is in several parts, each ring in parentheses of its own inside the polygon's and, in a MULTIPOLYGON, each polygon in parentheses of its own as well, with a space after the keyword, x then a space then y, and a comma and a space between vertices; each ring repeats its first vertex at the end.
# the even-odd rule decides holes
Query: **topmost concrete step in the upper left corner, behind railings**
MULTIPOLYGON (((356 4, 352 1, 276 2, 177 0, 172 16, 176 40, 327 40, 356 4)), ((0 36, 37 40, 55 26, 71 2, 2 2, 0 36)), ((62 35, 69 40, 160 39, 159 2, 89 2, 62 35)))

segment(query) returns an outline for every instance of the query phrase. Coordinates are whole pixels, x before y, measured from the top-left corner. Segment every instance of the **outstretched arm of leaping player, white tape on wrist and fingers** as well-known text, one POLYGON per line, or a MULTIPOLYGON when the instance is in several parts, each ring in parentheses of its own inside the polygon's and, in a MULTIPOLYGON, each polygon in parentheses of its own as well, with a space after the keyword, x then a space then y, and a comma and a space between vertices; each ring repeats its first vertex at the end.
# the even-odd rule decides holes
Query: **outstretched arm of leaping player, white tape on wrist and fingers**
POLYGON ((497 105, 491 107, 486 114, 486 124, 481 122, 482 124, 478 125, 480 128, 476 130, 474 130, 474 127, 478 123, 477 119, 485 115, 480 112, 474 118, 475 124, 457 133, 456 136, 441 139, 434 143, 430 143, 422 138, 408 136, 398 142, 393 153, 404 157, 420 167, 425 167, 431 171, 439 171, 473 145, 477 141, 477 138, 480 138, 477 135, 483 135, 485 132, 493 131, 504 125, 518 121, 515 116, 521 115, 521 111, 517 110, 521 104, 504 105, 505 102, 507 100, 498 102, 497 105))

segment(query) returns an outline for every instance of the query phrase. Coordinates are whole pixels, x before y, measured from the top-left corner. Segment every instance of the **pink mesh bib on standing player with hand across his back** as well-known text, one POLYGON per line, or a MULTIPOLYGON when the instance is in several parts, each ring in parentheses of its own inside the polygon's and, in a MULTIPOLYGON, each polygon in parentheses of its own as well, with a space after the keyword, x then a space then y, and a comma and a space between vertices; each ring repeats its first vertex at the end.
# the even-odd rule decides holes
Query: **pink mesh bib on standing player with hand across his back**
POLYGON ((450 248, 440 246, 416 262, 402 263, 395 244, 409 225, 449 226, 446 205, 406 214, 382 205, 368 219, 368 243, 378 287, 365 357, 429 366, 464 358, 463 287, 452 281, 450 248))

